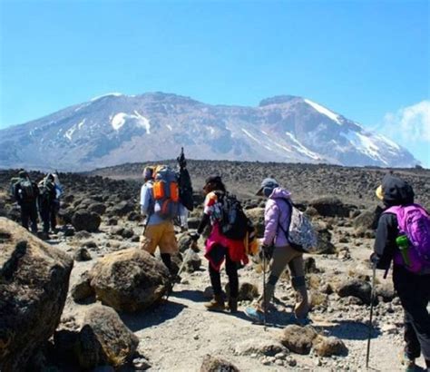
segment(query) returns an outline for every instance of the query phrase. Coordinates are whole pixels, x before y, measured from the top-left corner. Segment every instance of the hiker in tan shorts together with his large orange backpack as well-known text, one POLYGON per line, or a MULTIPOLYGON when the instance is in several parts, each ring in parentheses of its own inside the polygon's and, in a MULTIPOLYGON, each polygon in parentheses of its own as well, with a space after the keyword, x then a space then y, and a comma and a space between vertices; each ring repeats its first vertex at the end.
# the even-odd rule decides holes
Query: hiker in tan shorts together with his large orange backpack
POLYGON ((141 189, 141 211, 146 216, 141 248, 154 254, 160 248, 161 259, 174 275, 171 254, 178 251, 173 220, 178 215, 179 191, 176 175, 167 167, 146 167, 141 189))

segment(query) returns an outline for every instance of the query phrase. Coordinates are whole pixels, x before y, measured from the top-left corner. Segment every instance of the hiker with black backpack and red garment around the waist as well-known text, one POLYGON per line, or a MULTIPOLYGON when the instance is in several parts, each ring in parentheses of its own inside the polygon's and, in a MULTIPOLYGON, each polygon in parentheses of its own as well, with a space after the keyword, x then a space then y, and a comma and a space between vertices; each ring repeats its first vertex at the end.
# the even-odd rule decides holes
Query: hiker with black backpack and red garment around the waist
POLYGON ((214 297, 209 303, 205 304, 205 307, 213 311, 225 309, 220 279, 220 267, 225 260, 230 283, 229 309, 231 312, 236 312, 239 295, 239 264, 240 262, 248 263, 244 244, 244 239, 248 232, 248 221, 241 217, 244 214, 240 209, 239 201, 226 191, 220 176, 210 176, 206 180, 203 191, 206 194, 203 215, 197 232, 192 234, 191 238, 196 241, 199 240, 200 234, 210 222, 211 230, 205 243, 205 257, 209 260, 210 283, 214 297), (232 223, 227 226, 225 222, 229 218, 229 208, 230 210, 237 208, 234 214, 239 219, 230 220, 232 223))

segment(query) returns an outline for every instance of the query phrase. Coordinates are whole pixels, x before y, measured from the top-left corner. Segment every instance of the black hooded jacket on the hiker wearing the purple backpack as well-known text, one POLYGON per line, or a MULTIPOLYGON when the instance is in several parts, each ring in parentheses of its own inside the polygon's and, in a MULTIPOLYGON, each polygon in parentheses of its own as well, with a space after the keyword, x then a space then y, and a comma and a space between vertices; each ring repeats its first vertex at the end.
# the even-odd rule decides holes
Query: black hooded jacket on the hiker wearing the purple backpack
MULTIPOLYGON (((384 205, 387 208, 395 205, 408 205, 414 202, 414 191, 406 182, 392 175, 386 175, 382 181, 384 205)), ((378 220, 374 251, 378 258, 377 269, 389 269, 394 253, 398 249, 398 223, 394 213, 383 213, 378 220)))

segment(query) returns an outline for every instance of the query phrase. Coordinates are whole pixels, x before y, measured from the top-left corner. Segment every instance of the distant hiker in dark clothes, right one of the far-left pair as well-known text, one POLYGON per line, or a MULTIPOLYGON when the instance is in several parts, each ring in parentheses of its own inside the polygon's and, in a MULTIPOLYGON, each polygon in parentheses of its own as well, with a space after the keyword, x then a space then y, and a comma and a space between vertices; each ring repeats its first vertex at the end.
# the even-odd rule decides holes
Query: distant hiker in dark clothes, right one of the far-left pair
POLYGON ((49 228, 54 232, 56 225, 57 191, 54 174, 48 173, 38 184, 38 206, 44 224, 44 239, 49 238, 49 228))

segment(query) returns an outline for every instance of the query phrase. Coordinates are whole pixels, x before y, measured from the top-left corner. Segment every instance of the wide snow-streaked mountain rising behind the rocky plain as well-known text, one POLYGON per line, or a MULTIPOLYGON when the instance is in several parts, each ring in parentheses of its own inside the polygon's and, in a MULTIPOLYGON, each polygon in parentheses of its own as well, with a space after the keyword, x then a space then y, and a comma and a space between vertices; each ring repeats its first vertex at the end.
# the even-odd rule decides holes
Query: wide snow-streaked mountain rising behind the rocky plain
POLYGON ((210 105, 167 93, 106 94, 0 131, 0 167, 83 171, 172 159, 414 166, 411 153, 306 98, 258 107, 210 105))

